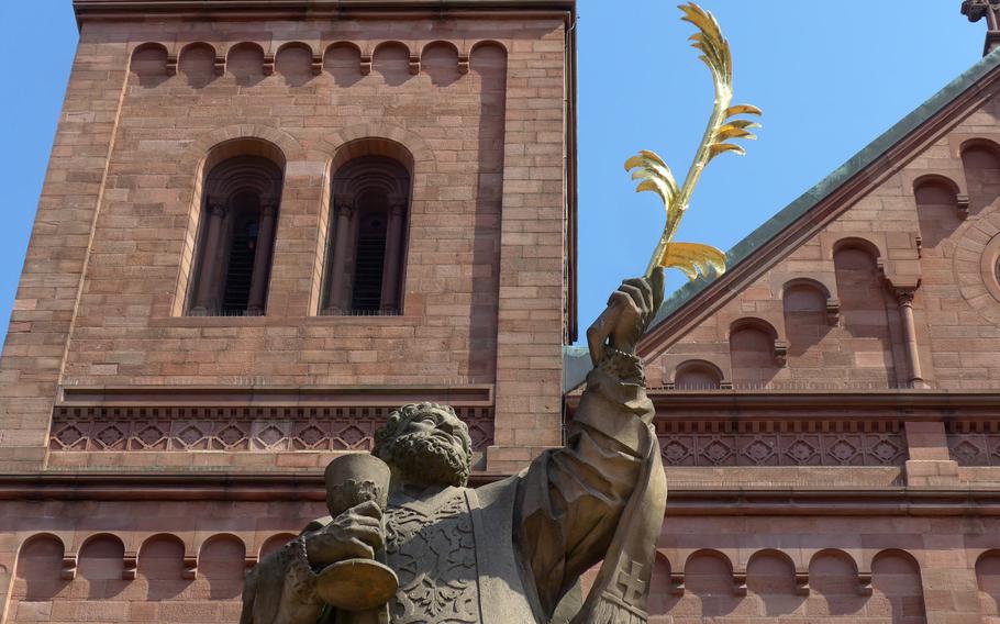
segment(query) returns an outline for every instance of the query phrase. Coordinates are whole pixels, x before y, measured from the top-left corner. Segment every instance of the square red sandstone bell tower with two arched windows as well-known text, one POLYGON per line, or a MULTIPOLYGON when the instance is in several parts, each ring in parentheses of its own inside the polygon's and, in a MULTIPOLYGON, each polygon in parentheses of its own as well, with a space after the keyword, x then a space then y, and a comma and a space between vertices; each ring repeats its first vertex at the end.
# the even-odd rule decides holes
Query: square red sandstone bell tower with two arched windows
POLYGON ((173 580, 242 579, 402 403, 454 405, 479 479, 562 443, 573 0, 74 9, 0 360, 0 478, 63 506, 2 503, 0 566, 26 545, 65 584, 99 555, 119 584, 109 606, 8 576, 9 614, 149 616, 129 581, 154 538, 173 580))

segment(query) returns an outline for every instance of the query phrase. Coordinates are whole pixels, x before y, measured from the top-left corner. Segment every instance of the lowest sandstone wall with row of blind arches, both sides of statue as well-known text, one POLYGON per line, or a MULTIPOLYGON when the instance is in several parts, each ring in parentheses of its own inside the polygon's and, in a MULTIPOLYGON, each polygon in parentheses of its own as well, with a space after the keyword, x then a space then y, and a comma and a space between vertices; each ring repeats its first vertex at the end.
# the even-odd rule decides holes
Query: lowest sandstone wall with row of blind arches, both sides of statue
MULTIPOLYGON (((244 571, 323 513, 286 502, 8 509, 11 623, 235 622, 244 571)), ((991 621, 998 528, 993 519, 668 514, 651 621, 991 621)))

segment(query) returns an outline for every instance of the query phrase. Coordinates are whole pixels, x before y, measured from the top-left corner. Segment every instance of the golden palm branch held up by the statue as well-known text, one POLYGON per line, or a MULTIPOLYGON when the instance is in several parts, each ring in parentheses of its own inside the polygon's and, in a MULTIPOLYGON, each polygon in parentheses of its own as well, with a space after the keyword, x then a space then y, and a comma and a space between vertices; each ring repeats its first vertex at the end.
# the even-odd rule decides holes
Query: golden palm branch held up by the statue
POLYGON ((704 136, 695 161, 688 170, 684 186, 677 187, 674 174, 664 163, 663 158, 654 152, 642 151, 625 161, 625 170, 632 171, 633 180, 642 180, 636 187, 636 192, 653 191, 663 199, 667 211, 667 223, 663 235, 649 258, 646 276, 653 275, 656 267, 677 268, 684 271, 688 279, 696 279, 699 275, 708 276, 709 268, 718 275, 725 272, 725 254, 709 245, 698 243, 675 243, 674 236, 684 218, 685 211, 691 201, 695 187, 701 178, 704 167, 715 156, 726 152, 744 155, 746 152, 740 145, 729 143, 734 138, 753 140, 756 136, 749 129, 759 127, 760 124, 746 119, 733 119, 742 114, 760 115, 760 110, 749 104, 731 105, 733 100, 733 57, 730 44, 722 35, 715 18, 693 2, 681 4, 686 22, 698 27, 691 35, 692 47, 701 52, 701 60, 712 73, 712 82, 715 87, 715 105, 712 116, 705 129, 704 136))

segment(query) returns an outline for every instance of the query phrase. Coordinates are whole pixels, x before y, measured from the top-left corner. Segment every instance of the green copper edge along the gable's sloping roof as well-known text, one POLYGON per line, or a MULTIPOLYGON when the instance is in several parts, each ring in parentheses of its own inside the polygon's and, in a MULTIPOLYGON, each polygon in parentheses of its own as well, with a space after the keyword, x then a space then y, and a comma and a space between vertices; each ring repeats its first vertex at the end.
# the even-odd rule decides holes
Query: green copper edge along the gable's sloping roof
MULTIPOLYGON (((847 159, 832 174, 820 180, 811 189, 799 196, 790 204, 778 211, 777 214, 765 221, 759 227, 751 232, 742 241, 733 245, 725 254, 726 265, 735 267, 748 258, 756 249, 777 236, 786 227, 809 212, 813 207, 825 199, 841 185, 856 176, 859 171, 871 165, 890 147, 899 143, 904 136, 923 125, 960 93, 968 90, 982 77, 1000 65, 1000 48, 995 49, 981 60, 966 69, 957 78, 948 82, 943 89, 931 96, 910 114, 904 116, 892 127, 884 132, 875 141, 863 147, 857 154, 847 159)), ((651 330, 663 323, 668 316, 677 312, 695 296, 702 292, 712 282, 709 279, 690 281, 675 290, 659 308, 653 320, 651 330)), ((589 355, 584 347, 563 347, 563 393, 569 392, 584 382, 589 371, 589 355), (585 361, 585 367, 581 361, 585 361), (579 372, 586 368, 582 375, 579 372)))

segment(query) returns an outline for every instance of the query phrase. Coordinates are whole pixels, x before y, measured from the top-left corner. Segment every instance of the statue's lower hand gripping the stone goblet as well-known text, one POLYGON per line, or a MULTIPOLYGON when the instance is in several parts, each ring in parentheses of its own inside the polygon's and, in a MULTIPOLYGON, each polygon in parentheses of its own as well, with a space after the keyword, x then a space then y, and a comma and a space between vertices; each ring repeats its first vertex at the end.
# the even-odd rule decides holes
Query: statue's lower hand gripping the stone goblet
POLYGON ((374 501, 353 506, 326 526, 305 535, 305 555, 313 566, 344 559, 371 559, 382 547, 382 511, 374 501))

